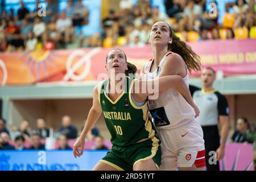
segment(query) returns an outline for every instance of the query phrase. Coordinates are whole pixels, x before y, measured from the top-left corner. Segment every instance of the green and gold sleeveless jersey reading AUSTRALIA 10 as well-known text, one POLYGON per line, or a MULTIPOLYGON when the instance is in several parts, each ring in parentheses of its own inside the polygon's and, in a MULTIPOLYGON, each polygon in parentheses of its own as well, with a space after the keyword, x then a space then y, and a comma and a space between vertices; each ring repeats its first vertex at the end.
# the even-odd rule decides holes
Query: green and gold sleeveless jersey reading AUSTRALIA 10
MULTIPOLYGON (((112 101, 108 97, 109 79, 98 87, 98 100, 102 108, 106 126, 112 136, 111 142, 116 146, 128 146, 155 138, 155 127, 148 117, 147 102, 137 106, 133 102, 131 91, 135 79, 126 77, 125 91, 112 101)), ((158 141, 152 141, 158 142, 158 141)))

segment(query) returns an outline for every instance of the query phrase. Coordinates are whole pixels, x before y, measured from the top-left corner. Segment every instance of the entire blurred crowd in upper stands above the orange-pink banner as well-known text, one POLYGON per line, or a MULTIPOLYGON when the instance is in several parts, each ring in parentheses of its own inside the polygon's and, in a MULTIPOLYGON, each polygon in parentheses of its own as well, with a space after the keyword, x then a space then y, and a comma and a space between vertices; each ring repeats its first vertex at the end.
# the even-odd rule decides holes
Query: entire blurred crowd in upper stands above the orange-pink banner
MULTIPOLYGON (((3 11, 0 23, 0 51, 33 51, 63 49, 74 43, 75 28, 89 22, 89 10, 82 4, 68 1, 67 9, 56 13, 56 6, 47 0, 46 16, 38 10, 29 12, 20 1, 17 15, 3 11)), ((101 30, 79 40, 77 47, 144 46, 148 44, 151 26, 163 21, 171 25, 181 40, 197 42, 215 39, 256 38, 255 0, 226 3, 226 14, 218 24, 218 4, 207 9, 206 0, 165 0, 166 13, 148 0, 122 0, 119 10, 109 10, 101 19, 101 30)), ((40 1, 36 1, 36 7, 40 1)), ((91 22, 93 23, 93 22, 91 22)))

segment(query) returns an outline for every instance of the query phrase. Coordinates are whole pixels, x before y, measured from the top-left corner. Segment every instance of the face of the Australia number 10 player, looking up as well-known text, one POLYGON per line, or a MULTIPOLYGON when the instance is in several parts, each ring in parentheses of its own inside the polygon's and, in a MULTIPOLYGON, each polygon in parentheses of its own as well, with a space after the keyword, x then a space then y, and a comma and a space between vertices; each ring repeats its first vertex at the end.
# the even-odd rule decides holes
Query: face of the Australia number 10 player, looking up
POLYGON ((125 54, 118 49, 110 51, 105 67, 109 73, 125 73, 127 70, 125 54))

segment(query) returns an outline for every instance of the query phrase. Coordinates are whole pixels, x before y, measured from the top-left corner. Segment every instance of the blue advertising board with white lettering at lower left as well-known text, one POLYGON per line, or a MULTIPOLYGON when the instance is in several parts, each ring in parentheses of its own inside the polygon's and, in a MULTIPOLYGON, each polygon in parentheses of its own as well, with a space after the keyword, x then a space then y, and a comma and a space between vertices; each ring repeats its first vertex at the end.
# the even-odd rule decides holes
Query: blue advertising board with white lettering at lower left
POLYGON ((84 151, 74 158, 65 151, 0 151, 0 171, 87 171, 106 155, 107 151, 84 151))

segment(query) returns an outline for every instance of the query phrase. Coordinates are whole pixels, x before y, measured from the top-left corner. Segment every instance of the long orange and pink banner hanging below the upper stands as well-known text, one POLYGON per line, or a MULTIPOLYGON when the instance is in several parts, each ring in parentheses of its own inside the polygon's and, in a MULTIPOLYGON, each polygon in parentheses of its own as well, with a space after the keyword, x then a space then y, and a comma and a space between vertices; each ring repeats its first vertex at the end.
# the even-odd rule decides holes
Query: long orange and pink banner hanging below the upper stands
MULTIPOLYGON (((256 39, 211 40, 189 43, 201 56, 202 68, 213 67, 224 75, 256 74, 256 39)), ((142 71, 152 58, 149 45, 118 47, 127 61, 142 71)), ((15 52, 0 54, 0 83, 5 85, 36 82, 95 81, 106 75, 105 60, 111 49, 79 48, 55 51, 15 52)), ((191 76, 200 73, 192 72, 191 76)))

